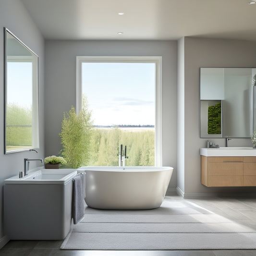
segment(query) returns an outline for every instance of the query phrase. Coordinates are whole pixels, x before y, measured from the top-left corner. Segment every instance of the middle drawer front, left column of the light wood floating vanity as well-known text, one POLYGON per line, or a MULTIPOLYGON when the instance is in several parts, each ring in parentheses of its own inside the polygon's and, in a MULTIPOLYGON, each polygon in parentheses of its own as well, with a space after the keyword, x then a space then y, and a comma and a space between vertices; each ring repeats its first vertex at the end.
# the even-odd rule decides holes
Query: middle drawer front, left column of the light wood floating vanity
POLYGON ((209 176, 243 176, 244 174, 243 162, 226 162, 226 163, 209 163, 209 176))

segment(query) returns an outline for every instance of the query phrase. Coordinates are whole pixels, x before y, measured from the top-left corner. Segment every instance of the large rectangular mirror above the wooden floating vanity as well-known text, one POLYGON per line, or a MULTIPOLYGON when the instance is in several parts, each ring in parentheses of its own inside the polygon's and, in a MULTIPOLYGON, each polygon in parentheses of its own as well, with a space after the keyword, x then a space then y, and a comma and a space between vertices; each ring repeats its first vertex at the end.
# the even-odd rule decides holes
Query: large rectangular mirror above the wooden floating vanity
POLYGON ((247 138, 253 129, 256 68, 200 69, 200 137, 247 138))

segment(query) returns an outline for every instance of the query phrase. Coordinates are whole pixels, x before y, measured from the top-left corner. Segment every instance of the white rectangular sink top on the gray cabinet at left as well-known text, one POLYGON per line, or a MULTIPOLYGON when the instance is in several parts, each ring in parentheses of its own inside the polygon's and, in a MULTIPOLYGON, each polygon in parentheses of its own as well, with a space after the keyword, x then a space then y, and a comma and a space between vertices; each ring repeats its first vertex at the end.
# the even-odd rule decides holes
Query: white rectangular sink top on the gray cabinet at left
POLYGON ((41 169, 30 171, 23 178, 13 176, 4 181, 5 184, 64 184, 77 175, 74 169, 41 169))

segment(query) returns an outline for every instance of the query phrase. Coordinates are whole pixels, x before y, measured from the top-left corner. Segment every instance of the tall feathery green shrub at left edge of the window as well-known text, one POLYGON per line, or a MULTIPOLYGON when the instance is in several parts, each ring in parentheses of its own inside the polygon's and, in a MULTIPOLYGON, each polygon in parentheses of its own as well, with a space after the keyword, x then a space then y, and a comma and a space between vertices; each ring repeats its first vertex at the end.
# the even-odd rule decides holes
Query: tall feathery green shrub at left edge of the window
POLYGON ((73 106, 68 113, 64 112, 60 133, 62 155, 71 168, 76 169, 89 162, 92 130, 91 111, 86 99, 83 99, 78 115, 73 106))

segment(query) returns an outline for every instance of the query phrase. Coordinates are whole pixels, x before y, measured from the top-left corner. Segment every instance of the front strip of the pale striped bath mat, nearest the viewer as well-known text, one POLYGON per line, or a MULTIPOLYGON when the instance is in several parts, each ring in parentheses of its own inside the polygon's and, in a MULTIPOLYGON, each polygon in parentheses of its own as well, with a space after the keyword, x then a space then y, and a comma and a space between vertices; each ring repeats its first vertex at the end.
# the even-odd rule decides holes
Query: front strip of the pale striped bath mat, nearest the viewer
POLYGON ((76 233, 61 249, 200 250, 256 249, 256 233, 76 233))

